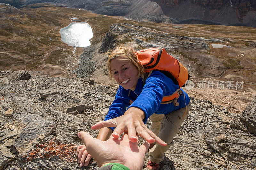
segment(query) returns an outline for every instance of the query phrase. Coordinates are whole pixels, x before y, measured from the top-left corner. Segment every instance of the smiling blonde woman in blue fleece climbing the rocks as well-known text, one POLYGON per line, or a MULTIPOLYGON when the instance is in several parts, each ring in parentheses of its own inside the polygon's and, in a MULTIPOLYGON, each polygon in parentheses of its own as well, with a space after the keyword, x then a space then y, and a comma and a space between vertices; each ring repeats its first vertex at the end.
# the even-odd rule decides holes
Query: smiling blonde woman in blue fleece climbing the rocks
MULTIPOLYGON (((97 139, 108 140, 111 134, 118 139, 127 132, 129 141, 136 143, 138 134, 153 147, 149 150, 147 169, 158 170, 164 153, 173 145, 173 138, 189 113, 188 95, 158 70, 146 76, 144 66, 130 47, 108 51, 108 71, 120 86, 104 121, 92 126, 93 130, 100 129, 97 139), (177 98, 162 102, 164 96, 171 96, 177 90, 180 91, 177 98), (152 122, 151 130, 145 125, 148 119, 152 122)), ((78 146, 77 152, 80 166, 87 166, 92 156, 86 147, 78 146)))

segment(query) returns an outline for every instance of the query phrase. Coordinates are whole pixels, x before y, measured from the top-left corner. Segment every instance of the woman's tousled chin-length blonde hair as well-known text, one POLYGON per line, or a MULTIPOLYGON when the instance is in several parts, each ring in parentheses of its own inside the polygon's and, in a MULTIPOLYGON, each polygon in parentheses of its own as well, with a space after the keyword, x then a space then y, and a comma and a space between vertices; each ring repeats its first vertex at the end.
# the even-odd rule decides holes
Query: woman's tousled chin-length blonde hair
POLYGON ((112 70, 110 68, 110 63, 114 58, 120 57, 121 60, 127 60, 132 62, 132 64, 137 68, 138 75, 137 78, 142 78, 144 80, 145 69, 144 66, 139 63, 138 57, 135 51, 131 47, 117 47, 114 51, 108 50, 108 74, 110 79, 113 79, 112 70))

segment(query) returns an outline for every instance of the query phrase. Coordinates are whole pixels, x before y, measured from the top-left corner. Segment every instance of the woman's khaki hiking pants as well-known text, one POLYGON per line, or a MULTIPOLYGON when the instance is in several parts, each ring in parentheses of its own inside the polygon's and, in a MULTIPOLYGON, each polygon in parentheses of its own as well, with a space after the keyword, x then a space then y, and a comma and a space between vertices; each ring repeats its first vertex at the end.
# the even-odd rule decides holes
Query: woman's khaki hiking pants
POLYGON ((172 111, 167 115, 153 114, 149 118, 152 122, 151 131, 155 133, 160 139, 162 139, 167 146, 161 146, 156 144, 153 148, 149 150, 150 160, 155 163, 159 163, 164 159, 164 153, 173 145, 173 138, 180 131, 182 123, 188 116, 191 109, 191 103, 187 106, 188 110, 183 119, 186 108, 181 108, 179 110, 172 111), (180 117, 180 118, 179 118, 180 117))

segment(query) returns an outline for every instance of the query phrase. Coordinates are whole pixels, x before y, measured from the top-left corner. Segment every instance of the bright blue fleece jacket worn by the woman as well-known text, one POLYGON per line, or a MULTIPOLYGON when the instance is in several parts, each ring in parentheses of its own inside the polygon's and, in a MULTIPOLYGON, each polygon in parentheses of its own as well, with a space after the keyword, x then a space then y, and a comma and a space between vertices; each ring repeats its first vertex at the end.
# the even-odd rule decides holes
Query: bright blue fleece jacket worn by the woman
MULTIPOLYGON (((126 90, 120 85, 115 100, 109 107, 108 114, 104 120, 122 116, 128 108, 137 107, 144 111, 145 119, 143 122, 146 124, 148 118, 153 113, 166 115, 174 110, 184 108, 186 107, 184 95, 187 105, 190 102, 190 99, 187 93, 182 89, 183 93, 177 100, 180 104, 179 106, 174 106, 173 102, 169 104, 161 104, 164 96, 171 95, 177 89, 179 89, 179 85, 175 85, 170 78, 158 71, 152 72, 146 79, 144 86, 142 78, 139 78, 134 91, 126 90), (131 105, 130 100, 133 101, 131 105)), ((114 130, 114 128, 111 129, 114 130)))

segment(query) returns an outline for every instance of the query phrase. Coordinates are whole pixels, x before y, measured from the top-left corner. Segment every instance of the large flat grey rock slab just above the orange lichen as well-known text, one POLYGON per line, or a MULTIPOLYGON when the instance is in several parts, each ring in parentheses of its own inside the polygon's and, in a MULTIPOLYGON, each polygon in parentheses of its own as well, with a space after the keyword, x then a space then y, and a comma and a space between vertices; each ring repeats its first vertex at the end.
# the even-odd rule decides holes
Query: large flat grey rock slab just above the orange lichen
POLYGON ((38 141, 49 136, 56 126, 57 123, 44 119, 30 122, 12 141, 12 145, 22 154, 38 141))

